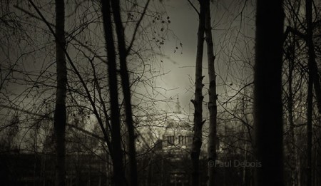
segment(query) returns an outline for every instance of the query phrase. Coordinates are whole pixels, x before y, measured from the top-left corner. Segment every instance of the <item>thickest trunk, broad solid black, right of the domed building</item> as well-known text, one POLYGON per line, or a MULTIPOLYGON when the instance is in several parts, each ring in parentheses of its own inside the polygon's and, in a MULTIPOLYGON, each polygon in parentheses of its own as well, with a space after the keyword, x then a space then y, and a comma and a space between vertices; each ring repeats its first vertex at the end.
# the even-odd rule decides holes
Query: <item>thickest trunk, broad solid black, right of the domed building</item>
POLYGON ((284 185, 282 149, 282 41, 280 0, 257 0, 254 76, 256 169, 261 185, 284 185))

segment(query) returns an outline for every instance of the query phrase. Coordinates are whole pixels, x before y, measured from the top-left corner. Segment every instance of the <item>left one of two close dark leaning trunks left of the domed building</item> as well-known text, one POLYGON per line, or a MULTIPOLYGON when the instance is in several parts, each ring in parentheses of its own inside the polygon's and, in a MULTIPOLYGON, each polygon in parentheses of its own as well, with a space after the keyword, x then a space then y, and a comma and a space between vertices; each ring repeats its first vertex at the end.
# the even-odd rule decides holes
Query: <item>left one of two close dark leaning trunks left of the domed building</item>
POLYGON ((113 178, 114 185, 126 185, 123 169, 123 152, 121 149, 121 122, 118 104, 118 82, 116 73, 116 50, 113 39, 111 22, 111 2, 101 0, 103 14, 103 29, 105 32, 106 49, 108 55, 108 82, 111 103, 111 146, 113 149, 113 178))

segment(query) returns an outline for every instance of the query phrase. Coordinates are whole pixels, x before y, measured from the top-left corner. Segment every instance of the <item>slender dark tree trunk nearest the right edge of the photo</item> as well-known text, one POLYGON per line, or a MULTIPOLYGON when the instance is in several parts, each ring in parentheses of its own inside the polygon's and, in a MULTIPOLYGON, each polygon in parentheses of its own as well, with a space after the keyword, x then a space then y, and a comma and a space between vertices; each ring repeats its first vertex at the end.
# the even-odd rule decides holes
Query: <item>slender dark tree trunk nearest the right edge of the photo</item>
POLYGON ((307 50, 308 50, 308 69, 309 78, 307 81, 307 186, 312 185, 312 100, 313 100, 313 63, 315 51, 312 38, 312 0, 305 1, 305 16, 307 19, 307 50))

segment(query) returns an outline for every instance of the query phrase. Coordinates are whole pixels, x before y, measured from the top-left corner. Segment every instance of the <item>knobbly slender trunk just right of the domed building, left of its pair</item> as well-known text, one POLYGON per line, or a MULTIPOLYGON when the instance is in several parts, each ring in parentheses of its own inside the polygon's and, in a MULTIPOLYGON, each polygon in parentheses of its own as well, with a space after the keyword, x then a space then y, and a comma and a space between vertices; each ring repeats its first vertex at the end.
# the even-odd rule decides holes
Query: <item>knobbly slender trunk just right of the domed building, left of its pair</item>
POLYGON ((196 52, 195 64, 195 98, 191 100, 194 105, 194 134, 193 143, 190 152, 192 160, 192 185, 198 186, 200 184, 200 148, 202 147, 202 128, 203 128, 203 48, 204 48, 204 31, 205 31, 205 9, 204 1, 200 0, 200 13, 198 23, 198 46, 196 52))

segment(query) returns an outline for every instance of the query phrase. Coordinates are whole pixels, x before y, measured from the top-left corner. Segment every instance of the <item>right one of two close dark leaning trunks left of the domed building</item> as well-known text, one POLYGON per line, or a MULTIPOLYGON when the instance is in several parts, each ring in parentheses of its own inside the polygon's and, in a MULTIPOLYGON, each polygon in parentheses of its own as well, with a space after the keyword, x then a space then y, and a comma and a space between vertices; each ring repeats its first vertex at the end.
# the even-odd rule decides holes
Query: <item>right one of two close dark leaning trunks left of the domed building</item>
POLYGON ((133 112, 131 109, 131 87, 129 84, 129 75, 127 69, 127 52, 125 44, 125 36, 123 29, 123 22, 121 21, 121 9, 119 6, 119 0, 111 1, 113 9, 113 17, 116 25, 116 33, 118 39, 118 52, 119 62, 121 63, 121 86, 123 88, 123 97, 125 100, 125 113, 126 113, 126 125, 128 130, 128 156, 129 156, 129 170, 130 179, 129 185, 138 185, 137 180, 137 162, 136 162, 136 148, 135 148, 135 128, 133 125, 133 112))

